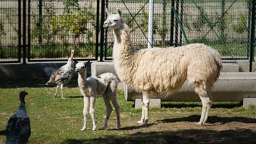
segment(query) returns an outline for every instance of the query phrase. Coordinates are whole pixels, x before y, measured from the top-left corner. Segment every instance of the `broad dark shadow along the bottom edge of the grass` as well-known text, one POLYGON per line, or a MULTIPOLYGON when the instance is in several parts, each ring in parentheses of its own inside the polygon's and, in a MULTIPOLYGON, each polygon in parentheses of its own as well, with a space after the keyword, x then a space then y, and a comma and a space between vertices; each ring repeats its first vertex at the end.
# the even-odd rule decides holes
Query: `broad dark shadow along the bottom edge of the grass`
POLYGON ((179 131, 161 131, 161 132, 137 132, 126 135, 106 135, 103 138, 95 139, 67 139, 64 144, 198 144, 198 143, 218 143, 218 144, 252 144, 256 143, 256 132, 249 129, 236 130, 179 130, 179 131))

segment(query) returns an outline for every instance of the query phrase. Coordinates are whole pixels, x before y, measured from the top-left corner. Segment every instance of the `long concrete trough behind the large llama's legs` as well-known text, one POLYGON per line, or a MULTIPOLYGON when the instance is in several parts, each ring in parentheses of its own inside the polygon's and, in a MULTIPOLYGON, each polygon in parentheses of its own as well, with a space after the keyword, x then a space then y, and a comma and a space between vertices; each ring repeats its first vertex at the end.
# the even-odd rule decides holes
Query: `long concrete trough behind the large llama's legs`
MULTIPOLYGON (((195 93, 193 84, 185 81, 182 88, 174 95, 167 97, 152 96, 152 99, 161 101, 201 101, 195 93)), ((125 99, 135 101, 141 99, 138 93, 129 86, 124 86, 125 99)), ((224 72, 219 76, 219 80, 214 84, 212 90, 213 101, 243 101, 244 98, 256 98, 256 73, 234 73, 224 72)))

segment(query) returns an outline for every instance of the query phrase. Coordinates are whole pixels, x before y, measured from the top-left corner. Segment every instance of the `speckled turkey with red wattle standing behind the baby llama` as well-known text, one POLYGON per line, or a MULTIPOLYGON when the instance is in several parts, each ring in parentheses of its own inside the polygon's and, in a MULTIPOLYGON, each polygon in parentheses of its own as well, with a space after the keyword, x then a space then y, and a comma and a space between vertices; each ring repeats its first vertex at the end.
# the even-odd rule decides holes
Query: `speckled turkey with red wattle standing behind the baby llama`
POLYGON ((73 54, 74 54, 74 50, 71 50, 71 56, 68 59, 67 64, 65 64, 64 66, 58 67, 56 70, 54 70, 52 72, 52 75, 50 77, 50 80, 46 83, 46 85, 50 84, 50 83, 56 83, 57 87, 56 87, 56 92, 54 97, 57 97, 57 91, 58 88, 60 87, 61 90, 61 98, 64 99, 63 97, 63 85, 68 83, 73 74, 74 74, 74 64, 73 64, 73 54))

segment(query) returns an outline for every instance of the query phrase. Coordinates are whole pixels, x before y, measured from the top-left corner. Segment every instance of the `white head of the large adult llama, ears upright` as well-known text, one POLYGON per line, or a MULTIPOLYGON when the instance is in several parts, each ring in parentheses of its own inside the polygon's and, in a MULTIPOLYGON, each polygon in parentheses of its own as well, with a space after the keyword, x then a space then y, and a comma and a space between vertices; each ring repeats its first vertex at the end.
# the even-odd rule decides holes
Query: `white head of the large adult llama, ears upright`
POLYGON ((103 27, 105 29, 119 29, 124 23, 121 10, 118 9, 117 14, 112 14, 107 10, 107 8, 105 8, 105 11, 107 13, 107 19, 104 21, 103 27))

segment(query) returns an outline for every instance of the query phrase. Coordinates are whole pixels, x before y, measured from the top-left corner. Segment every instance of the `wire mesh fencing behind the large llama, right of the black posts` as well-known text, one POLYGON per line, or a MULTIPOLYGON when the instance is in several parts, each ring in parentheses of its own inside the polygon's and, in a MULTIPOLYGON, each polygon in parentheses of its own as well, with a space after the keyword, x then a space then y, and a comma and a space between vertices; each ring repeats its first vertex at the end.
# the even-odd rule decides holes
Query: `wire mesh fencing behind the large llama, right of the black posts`
MULTIPOLYGON (((108 1, 108 9, 112 13, 116 13, 116 8, 122 10, 124 21, 131 29, 134 47, 146 48, 149 1, 108 1)), ((239 71, 249 71, 251 45, 254 49, 254 42, 250 42, 251 8, 252 0, 155 0, 153 45, 170 47, 205 43, 221 54, 223 62, 239 64, 239 71), (175 20, 179 19, 173 24, 172 8, 178 14, 178 18, 174 14, 175 20)), ((111 49, 114 42, 111 31, 107 40, 107 48, 111 49)), ((254 50, 252 56, 255 61, 254 50)), ((256 69, 254 62, 252 69, 256 69)))

